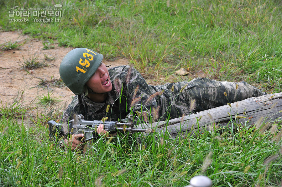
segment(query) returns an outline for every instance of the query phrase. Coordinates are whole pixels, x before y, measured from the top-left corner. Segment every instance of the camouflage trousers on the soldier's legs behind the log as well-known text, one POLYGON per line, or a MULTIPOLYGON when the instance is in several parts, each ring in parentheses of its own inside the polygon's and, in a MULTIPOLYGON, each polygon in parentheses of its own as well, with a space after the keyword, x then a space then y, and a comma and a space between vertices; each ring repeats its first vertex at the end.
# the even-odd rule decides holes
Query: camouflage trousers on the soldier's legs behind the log
POLYGON ((191 103, 195 100, 194 112, 198 112, 262 95, 265 93, 246 82, 221 82, 208 78, 195 78, 183 90, 182 96, 186 102, 191 103))

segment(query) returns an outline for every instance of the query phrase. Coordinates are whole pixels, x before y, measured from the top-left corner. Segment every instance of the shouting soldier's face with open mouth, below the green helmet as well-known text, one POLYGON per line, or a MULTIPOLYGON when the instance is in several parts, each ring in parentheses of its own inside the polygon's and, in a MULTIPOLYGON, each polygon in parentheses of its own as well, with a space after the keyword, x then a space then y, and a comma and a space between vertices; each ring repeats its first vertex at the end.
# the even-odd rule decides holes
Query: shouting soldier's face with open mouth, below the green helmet
POLYGON ((104 63, 101 63, 94 75, 86 82, 86 85, 95 93, 107 93, 112 90, 109 71, 104 63))

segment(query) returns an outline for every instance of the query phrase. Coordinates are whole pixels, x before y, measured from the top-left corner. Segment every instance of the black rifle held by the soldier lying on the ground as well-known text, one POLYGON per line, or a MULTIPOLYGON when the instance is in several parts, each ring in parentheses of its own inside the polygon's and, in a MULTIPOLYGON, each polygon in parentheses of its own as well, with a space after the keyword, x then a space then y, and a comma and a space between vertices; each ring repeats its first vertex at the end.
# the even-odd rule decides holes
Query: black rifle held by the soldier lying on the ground
POLYGON ((49 136, 53 138, 57 134, 64 136, 65 138, 68 135, 75 134, 84 134, 83 141, 95 139, 98 136, 97 127, 100 123, 104 124, 104 129, 108 132, 145 132, 145 133, 153 133, 154 129, 136 129, 133 126, 133 116, 129 116, 128 123, 119 123, 117 121, 86 121, 84 120, 83 115, 76 115, 76 117, 69 121, 69 124, 56 123, 55 121, 49 121, 49 136))

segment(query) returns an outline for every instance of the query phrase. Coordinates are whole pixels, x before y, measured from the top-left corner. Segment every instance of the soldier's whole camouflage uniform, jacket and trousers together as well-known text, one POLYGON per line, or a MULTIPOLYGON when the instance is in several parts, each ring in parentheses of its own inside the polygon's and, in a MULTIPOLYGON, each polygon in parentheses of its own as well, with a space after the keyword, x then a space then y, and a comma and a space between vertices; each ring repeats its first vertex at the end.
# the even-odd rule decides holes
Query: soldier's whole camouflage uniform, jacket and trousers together
POLYGON ((117 66, 108 71, 113 89, 107 93, 107 99, 95 103, 84 93, 75 96, 63 114, 63 121, 73 119, 76 114, 82 114, 85 120, 101 120, 107 116, 109 121, 118 121, 126 118, 131 110, 133 115, 142 113, 145 121, 166 120, 263 95, 262 91, 246 82, 195 78, 189 82, 152 86, 130 66, 117 66), (195 105, 190 106, 193 100, 195 105), (110 105, 108 113, 107 105, 110 105))

